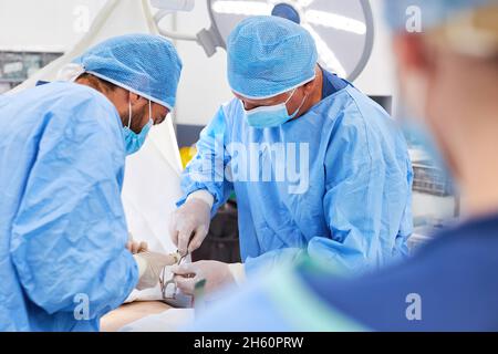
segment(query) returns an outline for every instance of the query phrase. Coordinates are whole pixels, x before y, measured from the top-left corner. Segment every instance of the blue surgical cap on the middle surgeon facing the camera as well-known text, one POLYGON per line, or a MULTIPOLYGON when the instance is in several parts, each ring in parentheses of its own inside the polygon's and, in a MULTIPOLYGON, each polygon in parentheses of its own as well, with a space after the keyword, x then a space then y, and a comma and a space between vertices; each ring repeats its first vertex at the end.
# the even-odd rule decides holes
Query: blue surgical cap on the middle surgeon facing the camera
POLYGON ((317 46, 299 24, 278 17, 240 22, 227 41, 228 82, 247 98, 269 98, 315 77, 317 46))

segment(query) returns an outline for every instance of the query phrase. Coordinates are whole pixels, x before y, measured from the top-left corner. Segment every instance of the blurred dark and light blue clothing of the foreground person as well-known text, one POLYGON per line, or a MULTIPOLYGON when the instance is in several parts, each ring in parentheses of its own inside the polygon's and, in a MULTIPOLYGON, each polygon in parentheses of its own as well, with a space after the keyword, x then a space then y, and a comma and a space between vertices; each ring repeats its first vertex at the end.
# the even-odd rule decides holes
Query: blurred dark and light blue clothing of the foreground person
POLYGON ((309 261, 252 281, 194 331, 498 331, 498 215, 434 236, 411 259, 360 278, 309 261))

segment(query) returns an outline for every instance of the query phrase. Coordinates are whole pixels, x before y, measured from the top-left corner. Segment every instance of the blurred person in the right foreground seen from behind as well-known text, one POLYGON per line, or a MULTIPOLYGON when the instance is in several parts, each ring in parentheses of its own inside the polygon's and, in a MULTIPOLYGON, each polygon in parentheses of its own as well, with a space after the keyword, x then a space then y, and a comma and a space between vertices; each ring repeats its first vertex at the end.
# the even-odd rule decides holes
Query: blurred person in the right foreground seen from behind
POLYGON ((310 261, 282 269, 207 312, 194 330, 498 331, 498 4, 385 6, 407 126, 446 162, 464 217, 405 263, 360 279, 310 261), (423 32, 406 32, 419 20, 423 32))

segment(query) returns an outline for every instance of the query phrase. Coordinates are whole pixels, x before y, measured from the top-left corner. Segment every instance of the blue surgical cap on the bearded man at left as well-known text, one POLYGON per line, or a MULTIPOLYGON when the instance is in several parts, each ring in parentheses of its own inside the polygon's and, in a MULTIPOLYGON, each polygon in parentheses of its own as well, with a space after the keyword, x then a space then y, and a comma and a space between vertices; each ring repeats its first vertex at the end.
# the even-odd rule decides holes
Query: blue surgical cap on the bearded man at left
POLYGON ((181 60, 159 35, 126 34, 106 40, 76 58, 84 71, 173 110, 181 60))

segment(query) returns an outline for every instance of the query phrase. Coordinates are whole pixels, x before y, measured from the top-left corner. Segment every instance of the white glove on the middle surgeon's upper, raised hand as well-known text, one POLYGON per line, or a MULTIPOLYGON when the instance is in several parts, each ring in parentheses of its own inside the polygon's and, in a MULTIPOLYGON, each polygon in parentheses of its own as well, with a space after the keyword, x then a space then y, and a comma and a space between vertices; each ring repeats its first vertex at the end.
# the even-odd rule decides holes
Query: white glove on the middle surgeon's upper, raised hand
POLYGON ((193 192, 172 216, 169 233, 181 256, 203 244, 209 231, 214 197, 206 190, 193 192))

